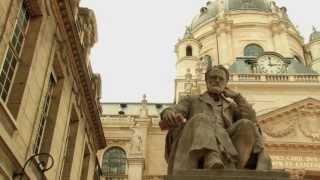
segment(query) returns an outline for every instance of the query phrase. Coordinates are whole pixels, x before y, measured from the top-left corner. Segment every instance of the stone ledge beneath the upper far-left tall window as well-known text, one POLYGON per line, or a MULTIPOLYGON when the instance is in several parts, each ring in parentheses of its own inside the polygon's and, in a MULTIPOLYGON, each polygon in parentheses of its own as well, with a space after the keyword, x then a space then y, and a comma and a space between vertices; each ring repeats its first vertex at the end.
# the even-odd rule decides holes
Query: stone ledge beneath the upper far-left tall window
POLYGON ((2 99, 0 99, 0 119, 9 133, 17 130, 17 123, 2 99))

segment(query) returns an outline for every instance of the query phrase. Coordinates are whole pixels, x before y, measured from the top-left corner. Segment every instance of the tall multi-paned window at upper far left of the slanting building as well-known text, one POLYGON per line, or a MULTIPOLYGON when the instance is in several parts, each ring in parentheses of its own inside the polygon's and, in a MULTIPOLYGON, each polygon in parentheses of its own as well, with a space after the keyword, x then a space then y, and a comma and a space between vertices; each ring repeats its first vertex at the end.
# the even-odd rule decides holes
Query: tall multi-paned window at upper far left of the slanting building
POLYGON ((22 3, 0 72, 0 98, 3 102, 7 101, 12 81, 19 65, 21 49, 27 33, 29 19, 27 8, 25 4, 22 3))

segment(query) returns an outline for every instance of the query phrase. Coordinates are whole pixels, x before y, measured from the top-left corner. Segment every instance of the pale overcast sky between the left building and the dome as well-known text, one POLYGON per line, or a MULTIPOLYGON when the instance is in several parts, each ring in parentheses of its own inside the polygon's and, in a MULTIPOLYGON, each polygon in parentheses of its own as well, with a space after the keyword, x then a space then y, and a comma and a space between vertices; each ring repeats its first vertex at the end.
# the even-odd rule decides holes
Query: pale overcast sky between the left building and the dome
MULTIPOLYGON (((98 43, 91 52, 102 77, 102 102, 172 102, 174 45, 207 0, 81 0, 93 9, 98 43)), ((277 0, 305 40, 320 29, 319 0, 277 0)))

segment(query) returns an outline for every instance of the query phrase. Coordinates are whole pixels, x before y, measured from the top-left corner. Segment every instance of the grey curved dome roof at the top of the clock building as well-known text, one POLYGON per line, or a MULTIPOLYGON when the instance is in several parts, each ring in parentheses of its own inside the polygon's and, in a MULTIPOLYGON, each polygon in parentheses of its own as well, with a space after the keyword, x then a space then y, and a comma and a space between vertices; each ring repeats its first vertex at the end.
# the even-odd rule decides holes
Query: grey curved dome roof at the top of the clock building
POLYGON ((193 18, 191 29, 215 18, 222 11, 255 10, 271 12, 270 0, 215 0, 208 1, 205 7, 200 9, 200 14, 193 18))

